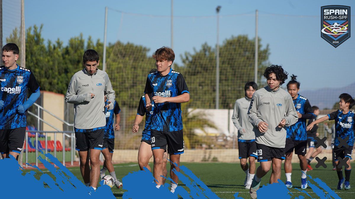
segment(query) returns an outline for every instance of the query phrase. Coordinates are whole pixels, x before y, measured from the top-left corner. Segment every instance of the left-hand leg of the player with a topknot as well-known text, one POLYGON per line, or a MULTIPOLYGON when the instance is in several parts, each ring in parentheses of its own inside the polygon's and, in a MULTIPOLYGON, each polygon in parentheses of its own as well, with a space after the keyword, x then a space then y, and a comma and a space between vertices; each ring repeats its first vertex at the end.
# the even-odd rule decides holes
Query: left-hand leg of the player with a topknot
POLYGON ((284 163, 286 182, 285 185, 287 188, 292 188, 291 174, 292 174, 292 156, 293 150, 295 148, 295 141, 289 138, 286 138, 285 151, 286 158, 284 163))

